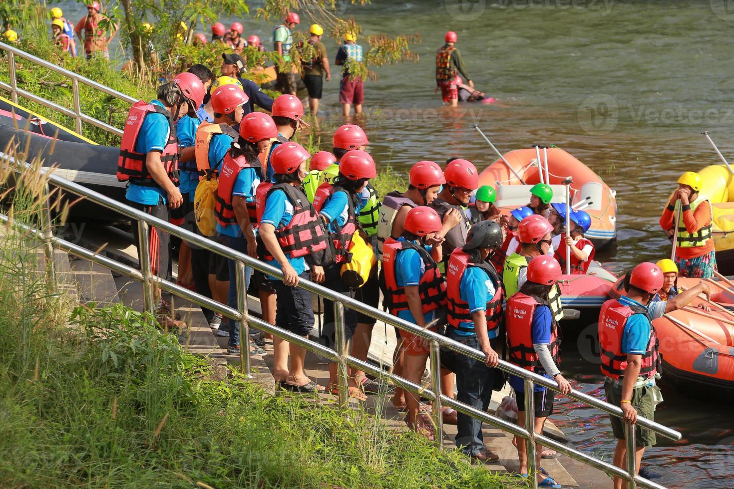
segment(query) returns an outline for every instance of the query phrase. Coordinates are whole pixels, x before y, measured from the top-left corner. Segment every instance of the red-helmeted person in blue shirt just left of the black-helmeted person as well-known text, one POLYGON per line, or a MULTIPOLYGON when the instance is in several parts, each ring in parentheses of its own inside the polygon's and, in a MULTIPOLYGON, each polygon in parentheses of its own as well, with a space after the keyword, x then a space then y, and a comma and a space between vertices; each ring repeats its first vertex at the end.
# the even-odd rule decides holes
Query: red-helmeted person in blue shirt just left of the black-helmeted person
MULTIPOLYGON (((435 233, 442 227, 441 218, 431 207, 413 207, 405 216, 404 231, 398 240, 387 238, 382 247, 382 268, 385 273, 385 306, 390 314, 436 331, 437 309, 446 304, 446 282, 443 281, 436 259, 441 246, 435 243, 435 233)), ((430 353, 430 343, 408 331, 401 331, 404 354, 403 377, 421 383, 430 353)), ((442 383, 453 376, 441 370, 442 383)), ((453 380, 453 379, 452 379, 453 380)), ((406 424, 417 433, 433 440, 431 418, 419 413, 418 395, 405 391, 406 424)))

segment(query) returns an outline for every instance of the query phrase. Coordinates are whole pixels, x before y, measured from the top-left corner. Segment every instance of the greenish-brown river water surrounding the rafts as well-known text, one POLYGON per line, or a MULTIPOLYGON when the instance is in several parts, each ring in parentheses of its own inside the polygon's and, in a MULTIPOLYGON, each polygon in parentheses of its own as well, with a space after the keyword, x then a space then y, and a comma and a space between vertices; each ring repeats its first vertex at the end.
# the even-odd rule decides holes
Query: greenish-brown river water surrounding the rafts
MULTIPOLYGON (((724 155, 734 155, 734 9, 727 0, 376 0, 355 7, 340 0, 364 32, 419 33, 418 63, 378 68, 366 84, 364 125, 379 165, 404 172, 415 161, 468 158, 480 169, 496 155, 471 128, 479 124, 503 152, 531 144, 556 144, 594 169, 617 190, 616 251, 597 259, 621 272, 669 253, 657 224, 664 199, 686 170, 718 163, 708 130, 724 155), (447 30, 478 89, 493 106, 442 109, 433 92, 434 53, 447 30)), ((81 10, 62 1, 68 18, 81 10)), ((251 4, 251 10, 256 4, 251 4)), ((258 34, 269 48, 272 26, 247 18, 245 36, 258 34)), ((305 29, 310 20, 302 16, 305 29)), ((325 40, 331 59, 336 43, 325 40)), ((338 77, 324 84, 323 149, 344 123, 338 77)), ((350 121, 351 122, 351 121, 350 121)), ((585 324, 593 322, 589 318, 585 324)), ((577 322, 578 323, 578 322, 577 322)), ((581 329, 584 323, 575 326, 581 329)), ((573 335, 575 337, 575 334, 573 335)), ((564 371, 584 391, 602 395, 598 367, 581 359, 584 334, 564 342, 564 371)), ((646 460, 663 485, 730 488, 734 460, 728 405, 690 400, 664 387, 658 420, 683 432, 683 441, 658 438, 646 460)), ((578 446, 611 459, 608 420, 562 402, 556 422, 578 446)))

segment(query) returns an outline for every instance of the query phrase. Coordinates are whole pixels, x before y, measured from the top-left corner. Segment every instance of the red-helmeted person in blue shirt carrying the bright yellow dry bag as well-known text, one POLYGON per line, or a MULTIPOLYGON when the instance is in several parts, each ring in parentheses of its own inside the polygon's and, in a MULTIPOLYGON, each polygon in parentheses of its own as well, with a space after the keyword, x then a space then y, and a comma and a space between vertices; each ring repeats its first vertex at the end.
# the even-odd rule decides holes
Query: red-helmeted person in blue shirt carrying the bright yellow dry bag
MULTIPOLYGON (((334 261, 324 267, 324 286, 334 292, 352 295, 349 286, 341 279, 341 267, 347 261, 352 246, 352 235, 361 230, 357 216, 362 207, 361 194, 370 178, 377 177, 374 160, 369 153, 352 150, 341 157, 339 174, 333 187, 327 185, 316 190, 313 202, 330 231, 335 250, 334 261)), ((335 348, 334 303, 324 298, 324 333, 327 346, 335 348)), ((350 342, 357 328, 357 312, 344 309, 345 341, 350 342)), ((351 367, 350 367, 351 370, 351 367)), ((337 364, 329 364, 327 392, 338 395, 337 364)), ((349 397, 367 400, 349 375, 349 397)))

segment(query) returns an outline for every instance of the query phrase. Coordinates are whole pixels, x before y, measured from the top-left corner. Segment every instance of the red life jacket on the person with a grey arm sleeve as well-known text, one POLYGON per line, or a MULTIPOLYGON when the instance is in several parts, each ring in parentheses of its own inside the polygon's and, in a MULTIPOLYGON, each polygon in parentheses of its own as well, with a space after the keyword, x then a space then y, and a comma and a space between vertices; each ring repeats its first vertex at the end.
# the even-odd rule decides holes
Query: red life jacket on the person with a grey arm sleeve
MULTIPOLYGON (((509 361, 517 367, 536 372, 542 369, 542 364, 538 359, 538 354, 533 348, 533 337, 531 333, 533 314, 535 308, 540 304, 530 295, 518 292, 511 298, 507 299, 507 307, 505 311, 507 345, 509 347, 509 361)), ((561 338, 559 337, 558 326, 553 320, 551 326, 551 344, 548 350, 551 351, 551 357, 556 365, 559 364, 561 338)))

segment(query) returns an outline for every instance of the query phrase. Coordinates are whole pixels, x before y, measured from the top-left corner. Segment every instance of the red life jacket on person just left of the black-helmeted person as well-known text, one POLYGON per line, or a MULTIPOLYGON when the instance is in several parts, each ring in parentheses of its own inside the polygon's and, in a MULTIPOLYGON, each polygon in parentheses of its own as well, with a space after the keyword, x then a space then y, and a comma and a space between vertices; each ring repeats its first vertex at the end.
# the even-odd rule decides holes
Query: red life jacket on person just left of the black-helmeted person
POLYGON ((426 265, 426 271, 424 271, 420 282, 418 282, 418 293, 421 295, 424 314, 446 304, 446 282, 443 280, 431 254, 423 246, 418 246, 415 243, 388 238, 382 248, 382 268, 385 270, 385 286, 388 290, 385 295, 385 306, 390 309, 390 314, 393 316, 398 311, 410 309, 405 296, 405 288, 398 287, 395 279, 395 260, 400 251, 409 248, 418 251, 424 265, 426 265))

